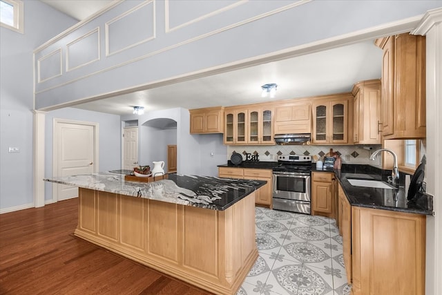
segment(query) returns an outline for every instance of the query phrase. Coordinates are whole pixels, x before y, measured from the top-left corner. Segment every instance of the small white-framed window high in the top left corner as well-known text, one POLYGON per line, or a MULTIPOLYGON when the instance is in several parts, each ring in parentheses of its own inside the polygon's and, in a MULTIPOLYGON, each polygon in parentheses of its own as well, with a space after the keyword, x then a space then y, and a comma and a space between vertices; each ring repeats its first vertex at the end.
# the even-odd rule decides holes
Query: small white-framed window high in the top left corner
POLYGON ((23 1, 0 0, 0 24, 23 34, 23 1))

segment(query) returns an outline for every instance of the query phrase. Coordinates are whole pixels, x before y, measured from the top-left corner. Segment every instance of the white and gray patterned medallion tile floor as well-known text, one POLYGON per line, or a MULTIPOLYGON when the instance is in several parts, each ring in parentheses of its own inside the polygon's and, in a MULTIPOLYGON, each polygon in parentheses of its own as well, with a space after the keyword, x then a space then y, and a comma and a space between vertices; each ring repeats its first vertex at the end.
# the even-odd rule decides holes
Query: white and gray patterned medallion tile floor
POLYGON ((255 210, 259 257, 237 295, 350 294, 335 220, 255 210))

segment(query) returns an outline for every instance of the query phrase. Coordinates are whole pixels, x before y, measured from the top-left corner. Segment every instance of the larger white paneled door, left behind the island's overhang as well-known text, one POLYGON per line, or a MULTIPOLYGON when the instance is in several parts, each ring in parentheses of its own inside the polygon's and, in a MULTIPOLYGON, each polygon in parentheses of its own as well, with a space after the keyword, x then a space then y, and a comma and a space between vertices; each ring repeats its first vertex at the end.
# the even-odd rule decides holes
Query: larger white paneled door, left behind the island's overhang
MULTIPOLYGON (((93 173, 95 167, 95 126, 55 122, 55 176, 93 173)), ((57 184, 55 200, 78 196, 78 188, 57 184)))

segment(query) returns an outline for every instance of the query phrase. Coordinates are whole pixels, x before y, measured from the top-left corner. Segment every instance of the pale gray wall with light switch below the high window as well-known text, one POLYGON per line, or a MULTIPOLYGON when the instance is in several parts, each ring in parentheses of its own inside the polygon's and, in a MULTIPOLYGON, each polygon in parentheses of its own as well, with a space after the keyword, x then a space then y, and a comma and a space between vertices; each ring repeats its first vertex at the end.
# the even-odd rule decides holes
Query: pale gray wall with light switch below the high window
POLYGON ((77 21, 40 1, 24 1, 24 34, 0 27, 0 211, 32 207, 32 52, 77 21), (8 153, 8 147, 20 153, 8 153))

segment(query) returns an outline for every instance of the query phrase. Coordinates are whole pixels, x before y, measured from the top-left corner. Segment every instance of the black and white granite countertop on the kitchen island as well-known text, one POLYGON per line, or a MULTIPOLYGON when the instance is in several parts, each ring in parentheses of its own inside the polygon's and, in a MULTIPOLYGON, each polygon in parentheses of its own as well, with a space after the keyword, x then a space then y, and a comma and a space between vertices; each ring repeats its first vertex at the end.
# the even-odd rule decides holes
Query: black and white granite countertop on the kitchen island
POLYGON ((149 183, 131 182, 125 181, 123 174, 107 172, 45 178, 44 180, 135 198, 220 211, 231 207, 267 183, 262 180, 177 174, 169 174, 167 180, 149 183))

